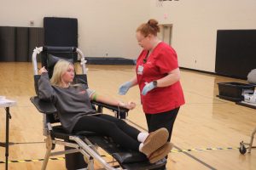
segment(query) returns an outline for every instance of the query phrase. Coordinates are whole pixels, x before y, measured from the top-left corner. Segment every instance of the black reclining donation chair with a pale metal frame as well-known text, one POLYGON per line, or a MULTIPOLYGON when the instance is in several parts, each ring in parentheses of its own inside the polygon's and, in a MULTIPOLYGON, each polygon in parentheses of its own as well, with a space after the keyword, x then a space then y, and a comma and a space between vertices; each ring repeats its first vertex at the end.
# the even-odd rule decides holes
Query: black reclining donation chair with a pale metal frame
MULTIPOLYGON (((59 59, 67 59, 70 62, 78 60, 79 54, 80 65, 82 67, 82 74, 75 73, 75 83, 84 83, 87 85, 87 69, 85 67, 86 60, 84 54, 79 48, 74 47, 41 47, 35 48, 32 54, 32 65, 34 71, 34 85, 36 94, 38 94, 38 62, 37 56, 41 54, 42 67, 45 66, 49 72, 49 77, 52 76, 55 63, 59 59), (58 56, 58 57, 57 57, 58 56)), ((58 111, 55 106, 47 101, 41 100, 38 96, 31 98, 32 104, 36 106, 39 112, 43 113, 44 124, 44 136, 46 136, 46 154, 44 156, 44 162, 42 169, 46 169, 49 161, 49 156, 63 155, 66 156, 66 167, 68 170, 73 169, 94 169, 94 161, 97 161, 101 167, 108 170, 113 169, 133 169, 133 170, 146 170, 146 169, 158 169, 166 165, 166 159, 158 161, 154 164, 149 163, 146 156, 136 150, 125 150, 119 147, 118 144, 114 144, 113 140, 109 137, 101 136, 97 133, 83 131, 79 133, 67 133, 61 127, 61 123, 58 119, 58 111), (55 151, 55 144, 61 144, 65 147, 65 150, 55 151), (108 162, 102 156, 98 149, 105 150, 114 161, 108 162), (79 159, 69 159, 69 155, 79 153, 82 156, 84 163, 82 167, 68 167, 67 161, 73 165, 79 164, 79 159), (85 163, 86 162, 86 163, 85 163)), ((100 114, 103 108, 113 111, 115 116, 121 119, 125 119, 128 114, 128 110, 125 108, 119 108, 113 105, 106 105, 96 101, 92 101, 92 105, 96 109, 96 113, 100 114)))

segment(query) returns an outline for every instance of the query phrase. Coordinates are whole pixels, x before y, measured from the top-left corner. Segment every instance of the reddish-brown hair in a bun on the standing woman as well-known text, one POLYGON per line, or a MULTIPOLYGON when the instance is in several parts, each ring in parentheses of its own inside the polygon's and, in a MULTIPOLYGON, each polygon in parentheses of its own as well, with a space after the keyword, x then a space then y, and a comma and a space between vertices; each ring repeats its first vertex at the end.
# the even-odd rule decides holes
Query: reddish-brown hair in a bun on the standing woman
POLYGON ((143 23, 137 28, 137 32, 141 32, 144 37, 147 37, 148 34, 157 36, 157 32, 160 32, 160 27, 158 26, 158 21, 154 19, 148 20, 147 23, 143 23))

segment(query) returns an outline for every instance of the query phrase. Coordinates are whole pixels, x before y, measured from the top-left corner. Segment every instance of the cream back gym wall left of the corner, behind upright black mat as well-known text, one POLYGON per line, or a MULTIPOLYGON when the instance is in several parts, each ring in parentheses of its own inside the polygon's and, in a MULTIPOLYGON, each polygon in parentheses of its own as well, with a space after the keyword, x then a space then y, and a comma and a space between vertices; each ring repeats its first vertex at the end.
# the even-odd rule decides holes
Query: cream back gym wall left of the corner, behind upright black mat
POLYGON ((148 20, 148 0, 0 0, 0 26, 43 27, 44 17, 79 20, 79 48, 90 57, 136 59, 135 31, 148 20), (143 8, 143 12, 142 12, 143 8))

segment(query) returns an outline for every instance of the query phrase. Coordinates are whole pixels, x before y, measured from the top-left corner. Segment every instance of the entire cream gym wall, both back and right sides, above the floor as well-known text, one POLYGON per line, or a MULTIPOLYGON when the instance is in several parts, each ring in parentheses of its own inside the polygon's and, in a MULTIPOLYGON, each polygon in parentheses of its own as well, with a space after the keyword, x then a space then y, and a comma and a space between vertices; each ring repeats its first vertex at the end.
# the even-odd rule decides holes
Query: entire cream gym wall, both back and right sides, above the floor
POLYGON ((149 18, 172 24, 180 66, 215 69, 217 30, 256 29, 256 0, 0 0, 0 26, 43 26, 48 17, 79 20, 79 48, 86 56, 136 59, 137 26, 149 18), (49 5, 50 4, 50 5, 49 5), (196 63, 195 63, 196 60, 196 63))

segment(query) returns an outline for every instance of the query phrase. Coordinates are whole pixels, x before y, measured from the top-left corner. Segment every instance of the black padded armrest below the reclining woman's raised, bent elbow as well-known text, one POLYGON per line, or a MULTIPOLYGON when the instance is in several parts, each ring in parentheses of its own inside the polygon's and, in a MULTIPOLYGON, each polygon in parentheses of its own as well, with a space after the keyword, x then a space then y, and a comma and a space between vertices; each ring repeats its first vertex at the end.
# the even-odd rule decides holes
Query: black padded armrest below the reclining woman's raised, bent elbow
POLYGON ((41 113, 53 114, 57 112, 55 106, 52 103, 39 99, 38 96, 31 97, 30 100, 41 113))

